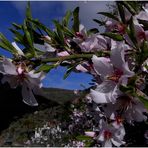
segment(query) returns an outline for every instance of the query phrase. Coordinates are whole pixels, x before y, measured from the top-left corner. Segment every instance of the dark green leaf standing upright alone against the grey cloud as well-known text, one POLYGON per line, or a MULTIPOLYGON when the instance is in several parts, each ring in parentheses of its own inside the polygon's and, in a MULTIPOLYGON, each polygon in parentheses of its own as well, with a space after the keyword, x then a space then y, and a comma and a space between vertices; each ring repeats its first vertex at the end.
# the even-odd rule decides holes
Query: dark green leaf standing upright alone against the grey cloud
POLYGON ((79 7, 75 8, 75 10, 73 11, 73 30, 74 32, 79 32, 79 7))

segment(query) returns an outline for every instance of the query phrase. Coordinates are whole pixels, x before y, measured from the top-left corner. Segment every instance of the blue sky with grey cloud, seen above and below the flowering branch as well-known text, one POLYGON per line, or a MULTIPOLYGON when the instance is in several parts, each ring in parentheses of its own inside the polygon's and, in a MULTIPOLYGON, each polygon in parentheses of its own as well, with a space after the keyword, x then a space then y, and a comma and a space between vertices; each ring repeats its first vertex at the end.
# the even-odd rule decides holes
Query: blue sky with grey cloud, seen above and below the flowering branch
MULTIPOLYGON (((111 3, 111 2, 110 2, 111 3)), ((96 14, 99 11, 106 11, 107 2, 80 2, 80 1, 32 1, 31 9, 34 18, 38 18, 42 23, 53 28, 53 19, 61 19, 66 10, 73 10, 75 7, 80 7, 80 20, 87 28, 96 27, 93 23, 93 18, 98 18, 96 14)), ((2 32, 10 41, 12 33, 8 30, 13 22, 22 23, 25 17, 25 1, 0 1, 0 32, 2 32)), ((10 54, 3 49, 0 49, 0 54, 9 56, 10 54)), ((45 87, 56 87, 65 89, 83 89, 89 87, 91 76, 83 73, 72 73, 66 80, 63 80, 65 68, 59 67, 51 70, 47 75, 43 84, 45 87)))

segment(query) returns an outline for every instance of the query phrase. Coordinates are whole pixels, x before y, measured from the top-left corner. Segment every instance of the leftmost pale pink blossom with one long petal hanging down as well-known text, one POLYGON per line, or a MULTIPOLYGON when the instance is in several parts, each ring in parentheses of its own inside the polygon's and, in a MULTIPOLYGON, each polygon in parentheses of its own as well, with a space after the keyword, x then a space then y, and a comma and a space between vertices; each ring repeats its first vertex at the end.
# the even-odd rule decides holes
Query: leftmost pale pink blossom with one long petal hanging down
POLYGON ((0 63, 0 73, 4 75, 1 80, 2 83, 8 82, 11 88, 22 86, 24 103, 31 106, 38 105, 34 97, 34 90, 42 87, 41 80, 44 78, 42 72, 29 71, 24 62, 14 64, 10 59, 3 58, 0 63))

